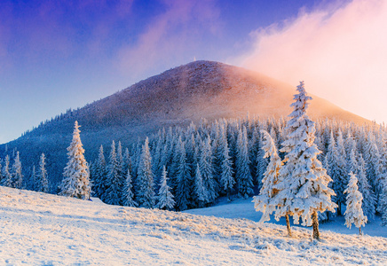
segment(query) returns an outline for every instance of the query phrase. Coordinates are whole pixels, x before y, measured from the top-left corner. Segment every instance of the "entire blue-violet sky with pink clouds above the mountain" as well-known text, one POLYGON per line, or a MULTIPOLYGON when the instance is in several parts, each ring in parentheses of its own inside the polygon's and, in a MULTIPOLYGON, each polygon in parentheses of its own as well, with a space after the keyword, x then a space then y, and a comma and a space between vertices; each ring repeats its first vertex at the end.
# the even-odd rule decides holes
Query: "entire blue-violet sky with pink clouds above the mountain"
POLYGON ((194 59, 387 121, 385 0, 0 1, 0 144, 194 59))

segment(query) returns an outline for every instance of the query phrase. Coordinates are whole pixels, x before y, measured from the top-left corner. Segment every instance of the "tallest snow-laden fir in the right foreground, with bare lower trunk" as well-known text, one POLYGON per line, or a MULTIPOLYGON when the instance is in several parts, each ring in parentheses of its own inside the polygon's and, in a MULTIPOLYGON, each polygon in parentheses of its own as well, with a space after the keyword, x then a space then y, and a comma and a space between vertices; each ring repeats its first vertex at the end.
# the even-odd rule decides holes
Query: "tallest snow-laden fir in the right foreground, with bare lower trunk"
POLYGON ((330 197, 335 192, 328 188, 332 179, 317 160, 321 152, 314 144, 314 122, 306 114, 312 98, 307 96, 304 82, 300 82, 297 90, 285 128, 287 140, 282 143, 281 151, 286 155, 285 164, 280 168, 281 182, 274 185, 279 191, 274 197, 278 203, 275 216, 279 219, 291 214, 295 223, 301 217, 303 225, 313 226, 313 239, 320 239, 318 212, 334 211, 336 204, 330 197))

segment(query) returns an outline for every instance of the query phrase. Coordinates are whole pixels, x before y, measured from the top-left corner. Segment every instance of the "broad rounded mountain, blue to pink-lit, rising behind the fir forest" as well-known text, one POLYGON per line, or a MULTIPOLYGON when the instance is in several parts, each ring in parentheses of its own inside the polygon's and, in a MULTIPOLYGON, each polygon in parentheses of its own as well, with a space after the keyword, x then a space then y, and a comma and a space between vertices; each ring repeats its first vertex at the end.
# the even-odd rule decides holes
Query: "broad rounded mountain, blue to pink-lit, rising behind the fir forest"
MULTIPOLYGON (((287 116, 296 85, 241 67, 195 61, 46 121, 22 137, 1 145, 0 157, 4 158, 5 153, 16 148, 24 165, 29 167, 37 164, 39 155, 45 153, 47 168, 60 172, 66 162, 66 148, 75 120, 82 126, 86 158, 91 160, 97 155, 99 145, 107 147, 112 140, 129 145, 130 141, 162 127, 185 126, 201 118, 236 118, 247 113, 262 118, 287 116)), ((322 98, 312 98, 309 113, 314 118, 367 122, 322 98)))

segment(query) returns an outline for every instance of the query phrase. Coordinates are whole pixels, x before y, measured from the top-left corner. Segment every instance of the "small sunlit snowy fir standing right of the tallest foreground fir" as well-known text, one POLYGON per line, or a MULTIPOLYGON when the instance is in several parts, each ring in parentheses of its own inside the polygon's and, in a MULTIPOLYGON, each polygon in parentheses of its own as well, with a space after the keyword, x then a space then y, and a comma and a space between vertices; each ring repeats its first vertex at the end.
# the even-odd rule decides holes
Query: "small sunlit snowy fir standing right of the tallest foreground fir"
POLYGON ((363 209, 361 208, 363 196, 358 191, 358 178, 352 172, 350 176, 350 182, 344 191, 347 194, 347 209, 344 213, 345 225, 351 228, 351 224, 354 223, 359 228, 359 234, 361 235, 361 226, 367 223, 367 216, 363 215, 363 209))

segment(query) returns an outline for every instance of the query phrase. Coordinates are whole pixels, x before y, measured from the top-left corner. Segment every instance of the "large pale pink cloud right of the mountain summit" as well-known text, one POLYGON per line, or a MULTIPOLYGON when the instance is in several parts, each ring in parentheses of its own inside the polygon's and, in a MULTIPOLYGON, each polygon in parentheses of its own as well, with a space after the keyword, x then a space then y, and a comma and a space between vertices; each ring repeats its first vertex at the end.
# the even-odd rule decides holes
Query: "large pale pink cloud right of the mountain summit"
POLYGON ((252 32, 240 65, 296 84, 368 119, 387 121, 387 1, 300 12, 252 32))

